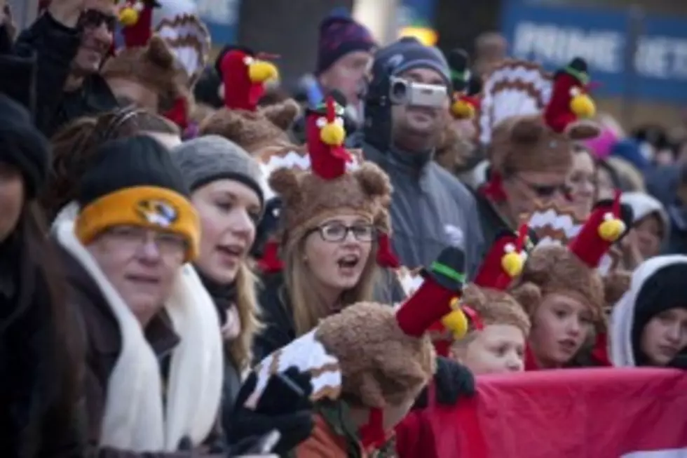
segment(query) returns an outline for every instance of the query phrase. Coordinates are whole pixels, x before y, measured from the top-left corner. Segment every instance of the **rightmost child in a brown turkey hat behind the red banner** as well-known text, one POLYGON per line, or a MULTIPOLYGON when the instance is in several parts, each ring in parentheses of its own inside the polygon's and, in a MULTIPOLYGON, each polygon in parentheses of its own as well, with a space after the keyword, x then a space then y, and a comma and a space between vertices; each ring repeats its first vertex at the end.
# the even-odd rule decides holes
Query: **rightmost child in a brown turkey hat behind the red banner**
POLYGON ((538 245, 530 253, 510 288, 532 321, 526 370, 564 367, 603 325, 605 285, 597 267, 625 234, 626 217, 618 194, 597 204, 567 246, 538 245))

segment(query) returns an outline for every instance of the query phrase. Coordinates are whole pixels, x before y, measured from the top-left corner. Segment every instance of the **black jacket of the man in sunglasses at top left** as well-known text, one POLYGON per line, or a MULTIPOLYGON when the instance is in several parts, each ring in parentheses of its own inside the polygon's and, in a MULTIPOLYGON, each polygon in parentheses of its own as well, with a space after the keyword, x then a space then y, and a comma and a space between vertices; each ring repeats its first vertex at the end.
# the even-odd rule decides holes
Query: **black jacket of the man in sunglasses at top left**
POLYGON ((79 29, 64 27, 50 13, 41 15, 15 43, 15 55, 36 55, 36 126, 47 136, 80 116, 108 112, 118 106, 100 74, 88 76, 79 90, 64 92, 80 44, 79 29))

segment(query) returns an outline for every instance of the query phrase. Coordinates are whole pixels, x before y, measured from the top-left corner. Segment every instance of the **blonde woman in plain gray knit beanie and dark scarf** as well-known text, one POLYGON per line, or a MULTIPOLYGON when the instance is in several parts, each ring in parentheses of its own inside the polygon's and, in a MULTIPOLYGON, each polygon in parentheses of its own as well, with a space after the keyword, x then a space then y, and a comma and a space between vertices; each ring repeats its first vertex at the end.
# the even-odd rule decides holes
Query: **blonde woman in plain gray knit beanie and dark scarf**
POLYGON ((200 216, 202 236, 195 265, 222 323, 228 360, 224 408, 228 412, 238 393, 240 374, 251 361, 258 329, 255 278, 247 262, 264 210, 261 172, 246 151, 217 135, 184 142, 171 154, 200 216))

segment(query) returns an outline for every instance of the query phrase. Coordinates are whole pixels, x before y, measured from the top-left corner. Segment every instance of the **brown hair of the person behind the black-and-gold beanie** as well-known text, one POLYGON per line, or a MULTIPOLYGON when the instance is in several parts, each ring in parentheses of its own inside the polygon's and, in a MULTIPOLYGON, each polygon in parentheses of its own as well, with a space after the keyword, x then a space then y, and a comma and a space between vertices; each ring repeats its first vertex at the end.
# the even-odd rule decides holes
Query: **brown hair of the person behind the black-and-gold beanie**
POLYGON ((53 163, 48 183, 40 197, 49 220, 74 200, 81 176, 95 149, 107 140, 142 132, 179 135, 179 128, 163 116, 127 107, 100 116, 76 119, 53 136, 53 163))

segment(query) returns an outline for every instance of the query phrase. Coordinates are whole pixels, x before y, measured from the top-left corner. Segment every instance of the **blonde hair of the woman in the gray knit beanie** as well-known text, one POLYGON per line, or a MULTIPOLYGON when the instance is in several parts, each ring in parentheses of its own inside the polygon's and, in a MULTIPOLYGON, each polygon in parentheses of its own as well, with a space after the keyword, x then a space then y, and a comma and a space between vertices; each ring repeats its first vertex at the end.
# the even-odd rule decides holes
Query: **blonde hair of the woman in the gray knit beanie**
POLYGON ((236 273, 236 309, 241 332, 228 344, 229 354, 239 370, 247 369, 252 361, 252 343, 261 330, 257 302, 257 277, 244 262, 236 273))

